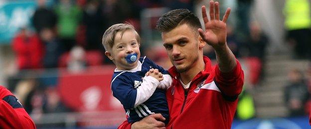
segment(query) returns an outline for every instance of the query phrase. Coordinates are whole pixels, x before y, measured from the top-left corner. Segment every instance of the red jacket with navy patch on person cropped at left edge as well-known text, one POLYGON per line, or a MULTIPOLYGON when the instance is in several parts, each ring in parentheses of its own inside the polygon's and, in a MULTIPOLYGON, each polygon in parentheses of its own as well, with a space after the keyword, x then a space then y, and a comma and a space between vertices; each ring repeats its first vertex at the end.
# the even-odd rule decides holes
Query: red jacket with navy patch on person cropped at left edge
POLYGON ((3 86, 0 98, 0 129, 36 129, 19 101, 3 86))

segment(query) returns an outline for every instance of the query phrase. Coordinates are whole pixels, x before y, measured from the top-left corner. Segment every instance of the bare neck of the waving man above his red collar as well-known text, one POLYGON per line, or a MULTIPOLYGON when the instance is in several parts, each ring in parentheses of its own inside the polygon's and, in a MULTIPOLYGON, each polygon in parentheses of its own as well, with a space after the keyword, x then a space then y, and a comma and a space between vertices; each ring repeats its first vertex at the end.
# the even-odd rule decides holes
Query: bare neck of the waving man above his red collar
POLYGON ((180 73, 180 80, 182 83, 188 84, 200 71, 203 71, 204 69, 205 63, 203 58, 200 58, 188 70, 180 73))

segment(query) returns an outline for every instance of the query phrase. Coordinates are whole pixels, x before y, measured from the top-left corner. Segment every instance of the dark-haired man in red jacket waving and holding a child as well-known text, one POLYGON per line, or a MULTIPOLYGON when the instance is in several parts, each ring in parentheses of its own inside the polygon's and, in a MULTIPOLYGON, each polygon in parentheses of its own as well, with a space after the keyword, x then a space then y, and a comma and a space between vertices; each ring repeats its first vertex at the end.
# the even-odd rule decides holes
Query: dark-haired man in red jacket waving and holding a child
POLYGON ((244 73, 226 43, 230 8, 220 21, 219 3, 209 4, 210 20, 202 6, 205 31, 187 9, 169 11, 158 21, 163 46, 174 65, 168 70, 173 82, 166 91, 169 123, 164 125, 164 118, 153 114, 136 123, 124 122, 119 129, 231 128, 244 73), (215 49, 216 66, 203 56, 206 43, 215 49))

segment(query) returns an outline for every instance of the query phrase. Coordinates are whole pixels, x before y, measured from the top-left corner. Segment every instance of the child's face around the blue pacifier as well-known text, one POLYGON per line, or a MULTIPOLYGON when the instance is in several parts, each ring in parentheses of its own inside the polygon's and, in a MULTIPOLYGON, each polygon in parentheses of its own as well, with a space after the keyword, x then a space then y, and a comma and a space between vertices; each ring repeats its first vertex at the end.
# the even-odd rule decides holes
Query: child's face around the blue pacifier
POLYGON ((117 65, 117 69, 129 70, 135 68, 140 56, 141 52, 139 49, 139 43, 136 39, 134 31, 125 31, 122 38, 121 32, 118 32, 115 37, 114 46, 112 47, 111 57, 109 57, 117 65), (127 55, 134 53, 137 53, 137 60, 132 64, 127 63, 127 55))

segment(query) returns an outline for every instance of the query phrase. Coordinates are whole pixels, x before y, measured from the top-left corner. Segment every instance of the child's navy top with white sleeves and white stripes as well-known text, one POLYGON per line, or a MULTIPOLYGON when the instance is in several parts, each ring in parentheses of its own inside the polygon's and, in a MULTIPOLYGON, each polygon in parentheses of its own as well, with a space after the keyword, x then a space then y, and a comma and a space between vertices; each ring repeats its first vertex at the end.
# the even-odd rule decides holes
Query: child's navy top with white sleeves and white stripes
POLYGON ((171 85, 171 77, 166 70, 146 57, 141 57, 138 66, 131 70, 114 71, 111 81, 113 96, 123 105, 129 123, 140 121, 156 113, 160 113, 166 119, 165 124, 168 123, 169 113, 165 90, 156 88, 157 85, 165 85, 165 88, 168 88, 171 85), (151 68, 158 69, 164 79, 159 82, 154 77, 145 77, 146 72, 151 68))

